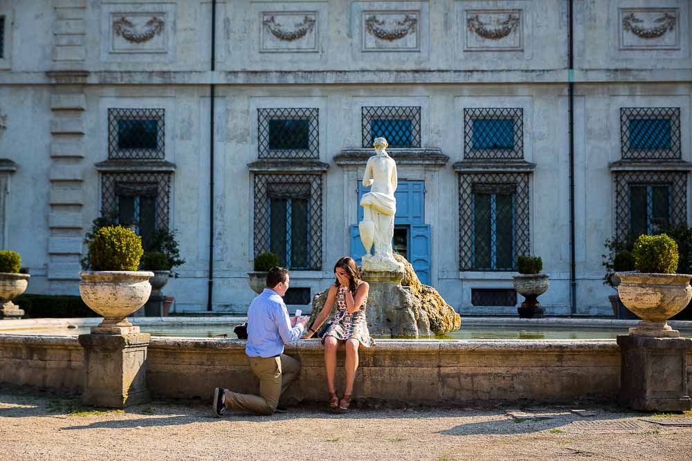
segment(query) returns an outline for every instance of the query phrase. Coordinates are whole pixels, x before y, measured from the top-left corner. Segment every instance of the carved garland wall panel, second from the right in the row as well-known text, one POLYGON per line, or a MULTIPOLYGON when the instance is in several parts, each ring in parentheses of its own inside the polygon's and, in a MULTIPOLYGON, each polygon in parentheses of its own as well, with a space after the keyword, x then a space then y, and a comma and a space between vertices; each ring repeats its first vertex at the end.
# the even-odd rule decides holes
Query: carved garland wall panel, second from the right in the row
POLYGON ((518 51, 523 49, 522 10, 466 10, 467 51, 518 51))

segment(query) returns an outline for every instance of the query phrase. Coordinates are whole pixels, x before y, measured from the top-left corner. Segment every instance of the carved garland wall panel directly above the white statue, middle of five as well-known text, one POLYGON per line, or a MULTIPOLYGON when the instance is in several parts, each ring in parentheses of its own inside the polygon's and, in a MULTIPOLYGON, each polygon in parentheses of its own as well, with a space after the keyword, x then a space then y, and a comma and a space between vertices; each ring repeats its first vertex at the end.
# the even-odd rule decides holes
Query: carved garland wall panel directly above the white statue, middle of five
POLYGON ((419 51, 420 21, 419 10, 363 11, 363 51, 419 51))

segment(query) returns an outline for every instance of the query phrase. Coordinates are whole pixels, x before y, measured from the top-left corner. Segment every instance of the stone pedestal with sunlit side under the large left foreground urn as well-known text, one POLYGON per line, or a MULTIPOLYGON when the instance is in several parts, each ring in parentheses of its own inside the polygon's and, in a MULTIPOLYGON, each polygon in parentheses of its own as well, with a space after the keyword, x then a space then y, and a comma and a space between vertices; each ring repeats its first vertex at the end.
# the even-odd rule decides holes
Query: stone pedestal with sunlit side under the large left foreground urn
POLYGON ((80 335, 84 348, 82 402, 125 408, 149 402, 147 347, 151 335, 80 335))

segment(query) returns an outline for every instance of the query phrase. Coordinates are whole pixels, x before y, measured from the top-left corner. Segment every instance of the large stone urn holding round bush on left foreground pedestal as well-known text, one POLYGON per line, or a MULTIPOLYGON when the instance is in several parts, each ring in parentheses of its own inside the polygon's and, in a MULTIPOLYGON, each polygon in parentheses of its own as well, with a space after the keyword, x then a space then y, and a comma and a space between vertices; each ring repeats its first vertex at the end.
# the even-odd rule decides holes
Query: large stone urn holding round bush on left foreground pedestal
POLYGON ((92 333, 129 335, 139 332, 127 316, 141 308, 149 299, 152 284, 149 271, 85 271, 80 272, 80 295, 86 305, 104 317, 92 333))

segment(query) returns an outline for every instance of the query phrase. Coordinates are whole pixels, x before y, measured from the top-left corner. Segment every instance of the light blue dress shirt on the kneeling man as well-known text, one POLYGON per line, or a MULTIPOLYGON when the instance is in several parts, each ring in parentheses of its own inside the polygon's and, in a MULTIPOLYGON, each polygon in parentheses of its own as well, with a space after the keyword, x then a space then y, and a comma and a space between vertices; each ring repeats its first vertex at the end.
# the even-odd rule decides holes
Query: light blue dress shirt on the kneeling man
POLYGON ((248 342, 245 353, 249 357, 274 357, 284 352, 284 343, 300 338, 303 326, 291 328, 289 311, 284 300, 274 290, 264 288, 253 299, 248 309, 248 342))

